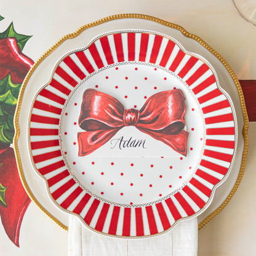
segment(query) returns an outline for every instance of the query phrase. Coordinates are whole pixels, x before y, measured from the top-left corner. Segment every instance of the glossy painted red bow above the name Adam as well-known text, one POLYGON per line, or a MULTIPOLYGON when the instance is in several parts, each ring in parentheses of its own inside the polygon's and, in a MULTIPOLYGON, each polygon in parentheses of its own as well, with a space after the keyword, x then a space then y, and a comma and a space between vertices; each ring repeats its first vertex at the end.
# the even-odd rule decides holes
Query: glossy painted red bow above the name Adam
POLYGON ((116 98, 87 89, 79 116, 79 126, 86 132, 78 132, 78 154, 86 156, 108 142, 122 127, 135 126, 186 156, 185 112, 184 95, 178 89, 152 95, 141 110, 124 110, 116 98))

